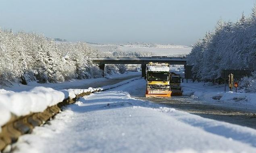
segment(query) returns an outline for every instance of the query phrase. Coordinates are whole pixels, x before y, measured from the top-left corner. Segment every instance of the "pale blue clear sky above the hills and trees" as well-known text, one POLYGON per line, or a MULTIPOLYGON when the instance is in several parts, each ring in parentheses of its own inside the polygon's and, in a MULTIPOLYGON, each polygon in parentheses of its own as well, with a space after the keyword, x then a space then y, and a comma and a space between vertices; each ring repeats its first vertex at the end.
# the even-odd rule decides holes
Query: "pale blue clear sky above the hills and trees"
POLYGON ((0 27, 95 43, 191 45, 255 0, 1 0, 0 27))

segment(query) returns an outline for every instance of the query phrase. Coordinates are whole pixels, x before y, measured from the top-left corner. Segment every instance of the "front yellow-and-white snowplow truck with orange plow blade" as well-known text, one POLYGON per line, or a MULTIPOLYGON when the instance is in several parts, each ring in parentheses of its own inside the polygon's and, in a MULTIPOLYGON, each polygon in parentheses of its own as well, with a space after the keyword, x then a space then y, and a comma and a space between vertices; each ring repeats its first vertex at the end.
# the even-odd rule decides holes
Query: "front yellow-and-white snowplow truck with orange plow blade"
POLYGON ((148 63, 146 67, 146 97, 171 98, 168 63, 148 63))

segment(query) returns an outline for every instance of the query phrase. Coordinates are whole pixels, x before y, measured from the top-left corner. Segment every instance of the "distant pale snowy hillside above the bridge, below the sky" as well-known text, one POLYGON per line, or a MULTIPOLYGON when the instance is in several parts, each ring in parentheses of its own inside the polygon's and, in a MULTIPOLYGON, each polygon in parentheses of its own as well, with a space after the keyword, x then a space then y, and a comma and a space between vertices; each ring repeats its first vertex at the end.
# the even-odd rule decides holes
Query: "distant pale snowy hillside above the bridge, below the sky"
POLYGON ((191 47, 181 46, 181 45, 154 45, 154 46, 145 46, 145 45, 96 45, 96 44, 87 44, 93 49, 98 51, 103 51, 108 53, 110 51, 143 51, 143 52, 152 52, 155 55, 165 55, 165 56, 178 56, 189 54, 191 47))

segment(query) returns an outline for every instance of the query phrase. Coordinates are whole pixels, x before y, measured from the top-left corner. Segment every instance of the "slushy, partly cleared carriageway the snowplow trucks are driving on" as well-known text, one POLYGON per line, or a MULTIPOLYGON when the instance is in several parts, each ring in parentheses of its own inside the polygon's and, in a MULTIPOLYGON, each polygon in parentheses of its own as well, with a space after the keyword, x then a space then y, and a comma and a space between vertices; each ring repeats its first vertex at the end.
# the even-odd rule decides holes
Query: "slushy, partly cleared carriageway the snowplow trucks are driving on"
MULTIPOLYGON (((202 83, 183 83, 182 86, 186 94, 196 93, 197 96, 207 95, 207 97, 196 97, 192 94, 192 96, 173 96, 170 99, 145 98, 146 83, 144 80, 136 80, 125 87, 114 88, 112 91, 128 92, 133 98, 139 100, 150 100, 165 107, 256 129, 255 104, 254 107, 251 106, 253 102, 213 100, 211 97, 221 92, 222 87, 203 86, 202 83)), ((230 99, 232 98, 231 96, 230 99)))

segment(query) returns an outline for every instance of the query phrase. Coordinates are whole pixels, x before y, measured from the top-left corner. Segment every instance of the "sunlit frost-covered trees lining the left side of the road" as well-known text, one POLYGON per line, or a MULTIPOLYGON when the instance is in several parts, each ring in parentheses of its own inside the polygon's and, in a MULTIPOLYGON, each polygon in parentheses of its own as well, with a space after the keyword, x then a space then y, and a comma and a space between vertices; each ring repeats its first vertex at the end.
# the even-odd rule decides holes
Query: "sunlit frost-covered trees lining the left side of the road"
MULTIPOLYGON (((138 52, 113 51, 110 56, 143 56, 138 52)), ((62 82, 102 77, 89 57, 98 53, 86 43, 56 42, 42 34, 0 29, 0 85, 62 82)), ((100 56, 106 56, 104 52, 100 56)), ((108 55, 109 56, 109 55, 108 55)), ((125 65, 108 65, 109 73, 124 73, 125 65)))

